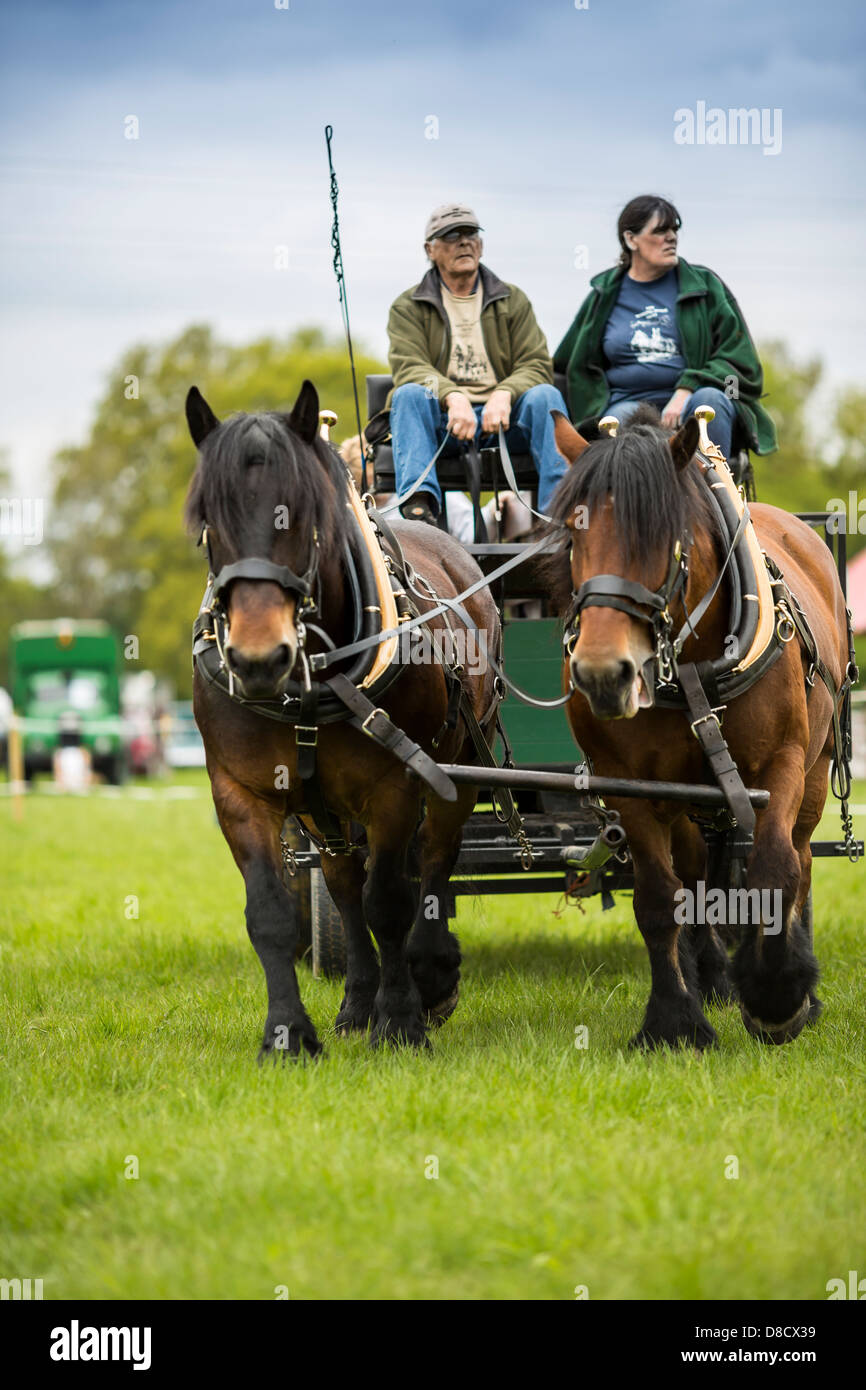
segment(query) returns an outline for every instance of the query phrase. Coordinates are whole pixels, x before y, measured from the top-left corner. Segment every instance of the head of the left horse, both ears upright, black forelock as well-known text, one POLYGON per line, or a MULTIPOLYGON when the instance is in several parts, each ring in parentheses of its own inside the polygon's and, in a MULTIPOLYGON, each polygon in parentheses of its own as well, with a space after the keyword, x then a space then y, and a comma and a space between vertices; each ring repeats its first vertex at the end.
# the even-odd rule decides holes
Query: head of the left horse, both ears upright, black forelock
POLYGON ((318 395, 304 381, 291 414, 220 423, 193 386, 186 420, 199 466, 186 523, 206 530, 214 598, 227 614, 225 660, 243 695, 279 695, 299 652, 299 609, 317 598, 320 552, 342 534, 345 481, 318 438, 318 395))

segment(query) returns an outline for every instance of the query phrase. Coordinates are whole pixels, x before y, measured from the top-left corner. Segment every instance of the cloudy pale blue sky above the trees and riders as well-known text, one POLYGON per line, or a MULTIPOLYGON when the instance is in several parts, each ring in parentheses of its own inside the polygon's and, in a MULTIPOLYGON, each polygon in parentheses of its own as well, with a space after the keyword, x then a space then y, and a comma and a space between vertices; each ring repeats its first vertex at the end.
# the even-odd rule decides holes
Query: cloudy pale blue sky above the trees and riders
POLYGON ((46 488, 131 343, 190 321, 236 341, 339 328, 328 121, 353 332, 378 352, 434 204, 477 208, 485 261, 553 346, 614 260, 623 203, 659 192, 756 338, 863 385, 866 7, 578 3, 3 0, 0 446, 18 489, 46 488), (780 152, 678 145, 674 113, 701 101, 781 111, 780 152))

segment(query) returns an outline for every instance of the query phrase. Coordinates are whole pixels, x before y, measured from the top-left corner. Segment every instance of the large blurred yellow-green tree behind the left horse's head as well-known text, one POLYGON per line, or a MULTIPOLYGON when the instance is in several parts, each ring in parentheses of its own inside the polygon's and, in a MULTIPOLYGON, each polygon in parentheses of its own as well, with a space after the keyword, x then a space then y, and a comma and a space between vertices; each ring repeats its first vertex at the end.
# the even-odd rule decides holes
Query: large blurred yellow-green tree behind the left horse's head
MULTIPOLYGON (((361 381, 382 364, 361 354, 361 381)), ((90 436, 56 457, 51 549, 64 612, 106 617, 139 638, 142 667, 190 689, 189 631, 204 588, 202 552, 185 534, 183 499, 196 461, 183 402, 197 385, 222 418, 285 410, 303 379, 334 409, 335 439, 357 432, 342 342, 316 328, 245 346, 188 328, 168 346, 136 346, 111 373, 90 436)))

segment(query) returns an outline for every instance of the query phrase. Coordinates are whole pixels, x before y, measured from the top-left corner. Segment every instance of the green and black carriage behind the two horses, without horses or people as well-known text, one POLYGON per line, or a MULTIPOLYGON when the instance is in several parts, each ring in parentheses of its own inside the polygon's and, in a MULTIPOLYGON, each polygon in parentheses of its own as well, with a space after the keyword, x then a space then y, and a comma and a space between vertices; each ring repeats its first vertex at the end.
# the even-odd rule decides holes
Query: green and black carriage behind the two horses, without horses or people
MULTIPOLYGON (((564 395, 564 378, 556 381, 564 395)), ((385 404, 392 378, 367 377, 367 414, 374 418, 385 404)), ((753 474, 745 439, 734 441, 731 474, 744 493, 753 496, 753 474)), ((521 489, 532 492, 537 473, 531 456, 512 455, 512 478, 502 468, 495 445, 478 450, 481 467, 467 470, 464 455, 457 452, 439 461, 438 475, 443 492, 468 491, 475 486, 473 503, 478 512, 478 491, 498 492, 516 481, 521 489)), ((373 491, 377 495, 395 492, 393 456, 388 442, 368 448, 373 491)), ((499 514, 499 509, 498 513, 499 514)), ((815 527, 833 556, 842 592, 847 592, 847 537, 835 525, 833 513, 799 513, 801 520, 815 527)), ((482 570, 489 571, 503 560, 517 557, 530 549, 527 541, 507 543, 500 539, 477 539, 467 545, 482 570)), ((539 708, 531 708, 517 698, 503 705, 502 721, 509 751, 509 771, 499 777, 489 773, 487 794, 482 792, 467 821, 460 858, 452 878, 453 898, 461 895, 538 894, 552 892, 569 899, 599 895, 605 908, 613 905, 613 892, 634 890, 634 873, 627 837, 619 816, 601 815, 603 796, 587 806, 588 777, 581 780, 580 755, 562 708, 541 708, 541 702, 556 701, 562 689, 562 620, 552 612, 549 595, 530 566, 517 566, 498 585, 498 606, 505 635, 505 669, 517 687, 531 692, 539 708), (506 830, 505 817, 491 801, 489 792, 507 785, 514 794, 523 817, 530 849, 514 844, 506 830)), ((851 746, 851 708, 841 710, 841 728, 851 746)), ((477 771, 473 773, 477 776, 477 771)), ((452 769, 450 776, 455 776, 452 769)), ((460 774, 457 774, 460 776, 460 774)), ((594 785, 599 787, 596 778, 594 785)), ((648 796, 659 794, 659 787, 632 781, 628 787, 614 785, 607 778, 609 795, 648 796)), ((695 796, 694 787, 667 787, 667 796, 685 801, 695 796)), ((714 805, 724 813, 723 792, 705 787, 705 805, 714 805)), ((762 799, 756 798, 760 805, 762 799)), ((720 817, 724 820, 724 815, 720 817)), ((719 834, 724 826, 720 827, 719 834)), ((345 937, 339 912, 324 885, 318 866, 318 851, 296 826, 286 826, 286 837, 293 847, 293 877, 289 887, 296 898, 303 923, 302 949, 310 955, 313 973, 341 976, 346 967, 345 937)), ((838 858, 858 855, 859 842, 845 840, 812 840, 812 855, 838 858)), ((453 910, 453 899, 450 903, 453 910)), ((812 941, 812 892, 803 913, 809 941, 812 941)))

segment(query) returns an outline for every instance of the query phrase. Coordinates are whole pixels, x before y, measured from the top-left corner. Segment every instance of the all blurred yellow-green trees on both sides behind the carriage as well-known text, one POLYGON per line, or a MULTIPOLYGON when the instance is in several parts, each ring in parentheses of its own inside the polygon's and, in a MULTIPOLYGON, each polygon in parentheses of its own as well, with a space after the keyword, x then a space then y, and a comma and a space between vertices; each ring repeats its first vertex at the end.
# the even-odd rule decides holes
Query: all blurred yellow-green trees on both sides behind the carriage
MULTIPOLYGON (((778 342, 765 343, 760 354, 780 450, 753 460, 759 499, 802 512, 847 498, 866 470, 866 392, 849 388, 819 411, 820 361, 796 361, 778 342)), ((363 350, 356 361, 364 420, 364 374, 386 367, 363 350)), ((8 682, 13 623, 104 617, 121 637, 138 635, 140 660, 131 666, 168 678, 178 698, 190 694, 189 634, 204 589, 204 562, 182 525, 196 461, 183 416, 186 392, 196 384, 220 417, 285 410, 304 377, 316 382, 322 406, 338 413, 335 441, 354 435, 345 345, 318 328, 234 346, 207 325, 192 325, 168 345, 138 345, 124 353, 88 439, 54 457, 44 539, 54 578, 28 580, 0 549, 0 684, 8 682), (129 399, 131 378, 138 399, 129 399)), ((0 491, 10 495, 1 459, 0 491)), ((849 553, 856 553, 866 537, 848 541, 849 553)))

